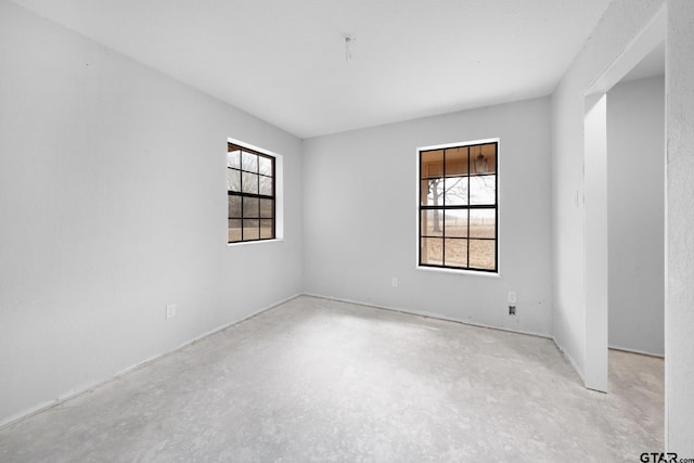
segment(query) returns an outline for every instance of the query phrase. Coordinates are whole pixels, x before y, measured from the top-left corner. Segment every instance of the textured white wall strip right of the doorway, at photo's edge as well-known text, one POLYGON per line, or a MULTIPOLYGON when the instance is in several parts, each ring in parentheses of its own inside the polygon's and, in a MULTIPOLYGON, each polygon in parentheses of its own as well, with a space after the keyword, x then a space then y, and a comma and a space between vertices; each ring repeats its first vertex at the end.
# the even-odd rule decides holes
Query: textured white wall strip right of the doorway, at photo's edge
POLYGON ((694 2, 668 0, 667 265, 665 314, 668 448, 694 455, 694 2))

